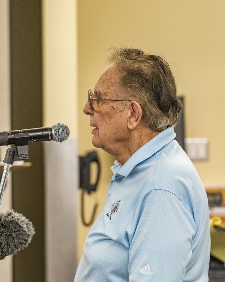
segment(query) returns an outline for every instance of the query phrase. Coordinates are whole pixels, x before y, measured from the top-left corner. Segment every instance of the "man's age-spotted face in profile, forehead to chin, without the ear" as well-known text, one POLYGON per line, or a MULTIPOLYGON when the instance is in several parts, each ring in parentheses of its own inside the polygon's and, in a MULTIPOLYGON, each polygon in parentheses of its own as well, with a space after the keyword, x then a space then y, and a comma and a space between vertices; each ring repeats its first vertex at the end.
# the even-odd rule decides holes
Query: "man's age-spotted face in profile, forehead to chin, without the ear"
MULTIPOLYGON (((126 90, 120 85, 120 73, 115 66, 108 68, 95 85, 93 98, 121 99, 126 97, 126 90)), ((129 98, 129 97, 127 97, 129 98)), ((87 102, 83 112, 90 115, 92 143, 110 154, 124 146, 128 138, 126 108, 128 102, 93 101, 93 108, 87 102), (121 104, 123 103, 123 104, 121 104)))

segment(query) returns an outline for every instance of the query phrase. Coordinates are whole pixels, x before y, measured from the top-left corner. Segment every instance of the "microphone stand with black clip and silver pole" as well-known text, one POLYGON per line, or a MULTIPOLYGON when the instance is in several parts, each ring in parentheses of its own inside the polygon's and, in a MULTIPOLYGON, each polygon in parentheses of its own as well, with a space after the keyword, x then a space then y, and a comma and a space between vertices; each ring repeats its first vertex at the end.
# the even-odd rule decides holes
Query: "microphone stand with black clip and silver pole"
POLYGON ((2 202, 2 196, 5 190, 6 180, 8 176, 8 172, 13 165, 14 157, 18 156, 18 160, 29 159, 28 154, 28 141, 29 141, 29 133, 17 133, 14 135, 16 138, 15 148, 9 148, 6 150, 5 158, 3 160, 3 174, 0 183, 0 205, 2 202))

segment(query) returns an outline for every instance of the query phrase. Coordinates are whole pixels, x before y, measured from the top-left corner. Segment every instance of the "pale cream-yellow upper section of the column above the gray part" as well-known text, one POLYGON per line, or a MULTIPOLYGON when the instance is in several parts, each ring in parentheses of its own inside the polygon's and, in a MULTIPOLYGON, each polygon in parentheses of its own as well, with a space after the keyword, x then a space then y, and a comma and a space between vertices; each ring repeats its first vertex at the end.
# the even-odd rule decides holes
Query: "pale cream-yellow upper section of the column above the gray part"
POLYGON ((43 0, 44 126, 65 123, 70 138, 77 122, 77 6, 74 0, 43 0))

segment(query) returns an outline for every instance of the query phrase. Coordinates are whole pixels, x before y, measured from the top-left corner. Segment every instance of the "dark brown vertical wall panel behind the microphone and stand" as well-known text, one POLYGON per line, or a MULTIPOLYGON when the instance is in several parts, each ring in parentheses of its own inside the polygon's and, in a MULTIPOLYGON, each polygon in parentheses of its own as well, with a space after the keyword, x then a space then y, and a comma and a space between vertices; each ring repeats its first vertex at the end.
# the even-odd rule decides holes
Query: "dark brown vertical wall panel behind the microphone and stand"
MULTIPOLYGON (((10 1, 12 130, 42 127, 41 0, 10 1)), ((29 144, 31 168, 12 173, 12 206, 34 225, 28 248, 13 257, 13 281, 45 281, 42 143, 29 144)))

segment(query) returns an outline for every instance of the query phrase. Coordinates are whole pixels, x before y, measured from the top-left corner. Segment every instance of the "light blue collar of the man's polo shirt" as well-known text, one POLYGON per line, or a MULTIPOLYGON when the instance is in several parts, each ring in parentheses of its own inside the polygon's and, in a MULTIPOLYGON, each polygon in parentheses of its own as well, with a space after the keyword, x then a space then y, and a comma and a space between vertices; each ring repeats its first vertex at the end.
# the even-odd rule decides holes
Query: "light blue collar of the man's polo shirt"
POLYGON ((160 132, 148 143, 144 144, 138 149, 124 165, 120 165, 118 161, 115 161, 115 165, 111 167, 114 176, 116 174, 128 176, 131 170, 140 162, 150 158, 153 154, 157 153, 161 148, 170 143, 176 137, 176 133, 173 130, 173 126, 160 132))

